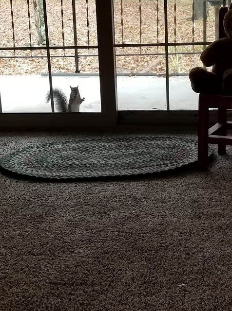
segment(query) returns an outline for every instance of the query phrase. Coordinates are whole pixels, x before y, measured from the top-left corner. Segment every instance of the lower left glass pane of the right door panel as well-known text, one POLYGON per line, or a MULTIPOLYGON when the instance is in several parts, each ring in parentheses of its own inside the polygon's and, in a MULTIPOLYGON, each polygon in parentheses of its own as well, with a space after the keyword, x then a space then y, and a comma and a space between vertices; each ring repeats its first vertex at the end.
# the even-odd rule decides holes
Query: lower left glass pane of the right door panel
POLYGON ((145 55, 129 49, 136 55, 116 51, 118 110, 166 110, 165 56, 146 55, 157 48, 142 48, 145 55))

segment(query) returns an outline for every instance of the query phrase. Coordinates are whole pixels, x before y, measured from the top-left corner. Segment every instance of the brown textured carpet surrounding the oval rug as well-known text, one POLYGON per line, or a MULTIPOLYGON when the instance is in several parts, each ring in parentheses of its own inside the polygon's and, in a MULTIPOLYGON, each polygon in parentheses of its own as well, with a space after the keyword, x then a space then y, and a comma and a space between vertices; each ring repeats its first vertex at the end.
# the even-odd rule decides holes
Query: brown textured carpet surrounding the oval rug
MULTIPOLYGON (((0 154, 69 136, 1 133, 0 154)), ((207 173, 0 174, 1 311, 227 311, 231 288, 231 147, 207 173)))

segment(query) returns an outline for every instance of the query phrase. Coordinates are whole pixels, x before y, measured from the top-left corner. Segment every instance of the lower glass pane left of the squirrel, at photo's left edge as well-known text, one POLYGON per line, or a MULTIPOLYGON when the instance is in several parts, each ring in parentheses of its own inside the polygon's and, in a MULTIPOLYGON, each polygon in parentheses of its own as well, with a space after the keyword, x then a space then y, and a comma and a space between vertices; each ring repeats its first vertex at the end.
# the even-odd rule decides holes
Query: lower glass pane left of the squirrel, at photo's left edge
POLYGON ((51 112, 45 104, 49 89, 46 58, 0 58, 2 112, 51 112))

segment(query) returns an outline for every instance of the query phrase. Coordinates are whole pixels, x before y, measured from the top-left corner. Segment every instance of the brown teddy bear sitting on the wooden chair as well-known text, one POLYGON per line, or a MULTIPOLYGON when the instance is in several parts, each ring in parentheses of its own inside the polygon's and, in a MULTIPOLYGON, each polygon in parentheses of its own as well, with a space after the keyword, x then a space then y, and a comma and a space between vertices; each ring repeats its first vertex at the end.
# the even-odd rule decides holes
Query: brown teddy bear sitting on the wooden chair
POLYGON ((213 66, 212 71, 196 67, 189 73, 196 93, 232 95, 232 3, 223 26, 227 37, 212 42, 200 56, 205 67, 213 66))

